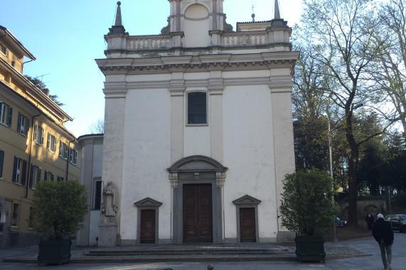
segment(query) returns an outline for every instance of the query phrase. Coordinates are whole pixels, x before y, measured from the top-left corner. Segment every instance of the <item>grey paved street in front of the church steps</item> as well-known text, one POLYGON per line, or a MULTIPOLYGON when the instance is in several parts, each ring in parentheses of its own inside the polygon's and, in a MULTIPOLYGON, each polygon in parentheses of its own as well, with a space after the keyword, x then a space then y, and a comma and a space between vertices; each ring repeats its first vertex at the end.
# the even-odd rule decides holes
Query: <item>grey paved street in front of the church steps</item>
MULTIPOLYGON (((326 243, 331 244, 332 243, 326 243)), ((338 242, 336 245, 357 249, 360 252, 372 254, 373 256, 358 257, 352 259, 334 259, 326 261, 326 264, 299 263, 298 261, 259 261, 259 262, 162 262, 162 263, 138 263, 138 264, 65 264, 63 266, 37 266, 36 264, 16 264, 0 262, 0 269, 111 269, 111 270, 144 270, 144 269, 166 269, 191 270, 207 269, 208 264, 213 264, 215 270, 262 270, 262 269, 334 269, 334 270, 378 270, 383 269, 380 259, 378 244, 373 237, 353 239, 338 242)), ((21 249, 0 250, 0 259, 16 257, 33 252, 34 247, 21 249)), ((405 269, 406 267, 406 234, 395 232, 395 243, 392 247, 392 268, 405 269)))

